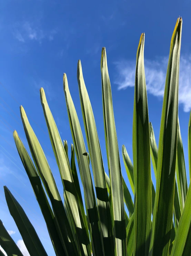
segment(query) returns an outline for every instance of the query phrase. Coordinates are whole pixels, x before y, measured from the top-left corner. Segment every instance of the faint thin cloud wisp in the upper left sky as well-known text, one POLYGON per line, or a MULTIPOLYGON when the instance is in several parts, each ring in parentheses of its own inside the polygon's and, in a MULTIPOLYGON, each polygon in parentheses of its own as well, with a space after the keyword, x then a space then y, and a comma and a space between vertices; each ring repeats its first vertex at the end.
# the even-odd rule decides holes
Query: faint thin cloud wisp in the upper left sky
POLYGON ((14 25, 14 37, 22 43, 30 41, 37 41, 40 44, 43 39, 48 39, 52 41, 54 36, 57 34, 57 29, 52 29, 48 32, 45 32, 41 25, 35 25, 29 21, 25 21, 23 23, 17 23, 14 25))

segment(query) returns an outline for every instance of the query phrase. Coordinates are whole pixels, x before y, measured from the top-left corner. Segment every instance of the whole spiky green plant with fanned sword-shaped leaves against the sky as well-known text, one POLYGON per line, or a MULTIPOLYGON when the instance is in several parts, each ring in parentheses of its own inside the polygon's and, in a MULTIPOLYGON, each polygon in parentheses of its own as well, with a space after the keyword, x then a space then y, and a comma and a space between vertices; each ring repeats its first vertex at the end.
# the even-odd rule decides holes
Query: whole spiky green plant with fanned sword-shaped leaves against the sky
MULTIPOLYGON (((63 87, 74 143, 74 147, 71 145, 71 160, 68 158, 67 141, 62 142, 44 90, 40 89, 43 112, 64 188, 64 203, 41 145, 21 106, 23 127, 35 166, 16 131, 13 136, 57 256, 191 255, 191 187, 188 189, 178 121, 181 30, 182 19, 178 18, 170 44, 159 149, 155 142, 152 125, 149 123, 144 74, 144 34, 141 35, 138 45, 133 112, 134 166, 127 150, 124 145, 122 146, 123 161, 134 193, 134 203, 121 174, 105 48, 102 49, 101 55, 101 81, 109 177, 104 171, 96 123, 80 61, 77 78, 89 154, 70 95, 66 74, 63 76, 63 87), (83 185, 83 195, 80 191, 74 150, 83 185), (156 192, 151 179, 150 159, 152 159, 156 178, 156 192), (177 179, 175 179, 175 173, 177 179), (127 205, 129 216, 125 212, 124 203, 127 205)), ((190 145, 189 123, 189 164, 191 162, 190 145)), ((4 187, 4 191, 9 211, 29 254, 31 256, 47 255, 22 207, 7 187, 4 187)), ((0 222, 0 245, 8 256, 22 255, 2 222, 0 222)))

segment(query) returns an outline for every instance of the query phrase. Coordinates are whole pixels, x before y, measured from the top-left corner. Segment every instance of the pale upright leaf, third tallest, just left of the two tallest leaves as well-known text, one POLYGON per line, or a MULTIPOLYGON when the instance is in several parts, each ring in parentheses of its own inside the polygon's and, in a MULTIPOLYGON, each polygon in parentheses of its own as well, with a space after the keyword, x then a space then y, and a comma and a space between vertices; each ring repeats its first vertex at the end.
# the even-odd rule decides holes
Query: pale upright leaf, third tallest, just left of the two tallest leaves
POLYGON ((123 181, 119 158, 119 148, 115 121, 113 115, 113 104, 111 95, 111 85, 107 67, 107 57, 105 48, 102 49, 101 56, 101 81, 105 143, 108 158, 108 168, 111 182, 112 218, 114 220, 113 235, 117 255, 127 255, 127 240, 125 229, 125 210, 123 181))

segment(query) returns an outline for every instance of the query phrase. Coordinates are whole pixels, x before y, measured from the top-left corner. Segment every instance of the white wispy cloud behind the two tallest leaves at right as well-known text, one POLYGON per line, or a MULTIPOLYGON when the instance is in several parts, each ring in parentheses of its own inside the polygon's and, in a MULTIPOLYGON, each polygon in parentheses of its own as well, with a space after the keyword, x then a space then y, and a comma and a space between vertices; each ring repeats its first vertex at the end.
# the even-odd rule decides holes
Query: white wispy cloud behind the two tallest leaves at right
MULTIPOLYGON (((115 62, 118 71, 115 84, 118 89, 133 87, 135 81, 136 61, 118 61, 115 62)), ((155 60, 144 60, 145 78, 147 92, 163 97, 164 85, 167 72, 168 57, 156 58, 155 60)), ((185 112, 191 109, 191 55, 181 56, 180 58, 180 76, 179 76, 179 104, 183 105, 185 112)))

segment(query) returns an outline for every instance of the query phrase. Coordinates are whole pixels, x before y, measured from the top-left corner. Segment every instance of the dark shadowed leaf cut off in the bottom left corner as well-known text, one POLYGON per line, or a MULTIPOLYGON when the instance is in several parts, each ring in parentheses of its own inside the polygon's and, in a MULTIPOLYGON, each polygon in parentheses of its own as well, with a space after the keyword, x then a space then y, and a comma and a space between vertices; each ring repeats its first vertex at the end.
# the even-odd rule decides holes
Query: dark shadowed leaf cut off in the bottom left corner
MULTIPOLYGON (((6 251, 7 256, 23 256, 16 243, 13 241, 12 237, 7 232, 6 228, 3 225, 3 222, 0 220, 0 246, 6 251)), ((4 253, 0 255, 4 256, 4 253)))

